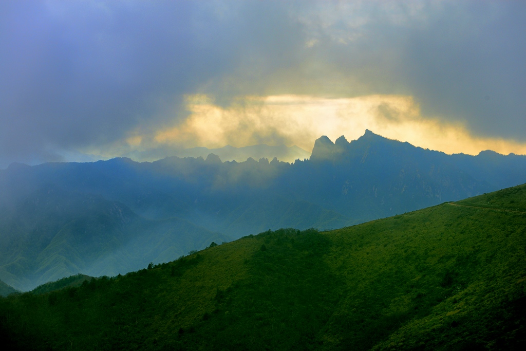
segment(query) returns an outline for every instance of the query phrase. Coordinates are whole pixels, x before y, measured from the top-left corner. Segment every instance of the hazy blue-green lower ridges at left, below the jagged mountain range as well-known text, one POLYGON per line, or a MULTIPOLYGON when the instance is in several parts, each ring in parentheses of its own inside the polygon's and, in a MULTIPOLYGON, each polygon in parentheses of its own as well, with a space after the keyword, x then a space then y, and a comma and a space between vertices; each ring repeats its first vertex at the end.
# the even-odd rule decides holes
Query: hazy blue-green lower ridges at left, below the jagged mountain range
POLYGON ((0 276, 31 290, 72 274, 117 275, 229 238, 183 219, 145 219, 100 195, 42 187, 0 220, 0 276))

